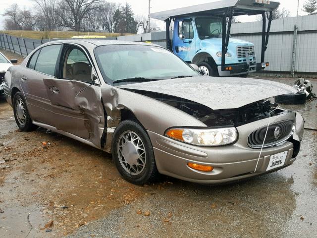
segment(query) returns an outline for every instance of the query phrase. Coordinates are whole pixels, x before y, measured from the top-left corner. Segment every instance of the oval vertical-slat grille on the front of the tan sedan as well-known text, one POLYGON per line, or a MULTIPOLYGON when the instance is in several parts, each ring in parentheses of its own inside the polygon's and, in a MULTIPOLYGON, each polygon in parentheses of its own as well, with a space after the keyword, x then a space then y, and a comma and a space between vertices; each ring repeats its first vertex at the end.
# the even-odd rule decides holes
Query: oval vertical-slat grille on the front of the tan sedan
MULTIPOLYGON (((264 141, 264 147, 276 145, 287 140, 291 133, 294 126, 293 120, 284 120, 272 123, 268 126, 267 135, 264 141), (275 129, 280 128, 280 134, 276 138, 275 129), (275 135, 274 135, 275 134, 275 135)), ((259 129, 254 130, 248 136, 248 145, 251 148, 261 148, 265 136, 267 126, 263 126, 259 129)))

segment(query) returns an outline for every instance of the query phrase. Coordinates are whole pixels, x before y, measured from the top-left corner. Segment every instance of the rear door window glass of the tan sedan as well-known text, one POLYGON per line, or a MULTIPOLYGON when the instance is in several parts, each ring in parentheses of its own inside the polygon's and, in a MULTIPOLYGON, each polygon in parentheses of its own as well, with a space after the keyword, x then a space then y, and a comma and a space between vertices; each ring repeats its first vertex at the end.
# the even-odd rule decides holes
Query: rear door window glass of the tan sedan
POLYGON ((54 76, 57 57, 61 45, 45 46, 41 49, 35 70, 54 76))

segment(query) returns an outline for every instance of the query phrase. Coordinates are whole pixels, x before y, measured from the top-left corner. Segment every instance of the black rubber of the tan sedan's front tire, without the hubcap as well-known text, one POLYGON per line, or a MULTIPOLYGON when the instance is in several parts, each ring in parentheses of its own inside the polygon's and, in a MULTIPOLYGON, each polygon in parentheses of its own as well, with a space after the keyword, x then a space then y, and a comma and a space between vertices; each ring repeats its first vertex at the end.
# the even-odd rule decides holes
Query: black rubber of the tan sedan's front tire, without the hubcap
POLYGON ((143 126, 140 125, 138 122, 132 120, 124 120, 115 129, 112 138, 112 158, 121 176, 131 183, 142 185, 147 182, 155 181, 159 177, 159 172, 156 167, 154 151, 150 137, 147 134, 146 130, 143 128, 143 126), (144 151, 146 154, 144 169, 138 175, 128 173, 126 171, 127 167, 124 168, 124 165, 120 162, 119 158, 119 139, 121 135, 124 135, 125 132, 129 131, 132 131, 137 136, 139 136, 144 145, 144 151))

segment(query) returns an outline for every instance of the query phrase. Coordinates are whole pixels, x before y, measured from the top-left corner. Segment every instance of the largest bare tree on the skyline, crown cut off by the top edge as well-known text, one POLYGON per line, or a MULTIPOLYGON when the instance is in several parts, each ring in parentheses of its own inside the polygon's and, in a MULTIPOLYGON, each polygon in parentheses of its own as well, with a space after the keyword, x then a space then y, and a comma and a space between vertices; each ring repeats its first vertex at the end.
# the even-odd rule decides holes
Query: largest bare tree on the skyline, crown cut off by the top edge
POLYGON ((59 0, 60 25, 80 31, 83 19, 99 7, 100 0, 59 0))

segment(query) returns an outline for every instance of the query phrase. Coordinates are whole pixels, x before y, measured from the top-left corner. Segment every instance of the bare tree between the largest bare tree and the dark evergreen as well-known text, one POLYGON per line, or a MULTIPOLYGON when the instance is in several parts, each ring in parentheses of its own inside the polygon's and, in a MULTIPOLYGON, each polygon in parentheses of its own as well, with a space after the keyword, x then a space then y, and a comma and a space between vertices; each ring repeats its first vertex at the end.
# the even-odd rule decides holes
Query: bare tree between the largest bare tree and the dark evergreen
POLYGON ((114 12, 120 8, 120 4, 115 2, 103 1, 98 9, 99 21, 103 30, 113 32, 114 12))

